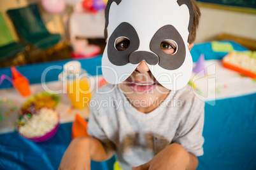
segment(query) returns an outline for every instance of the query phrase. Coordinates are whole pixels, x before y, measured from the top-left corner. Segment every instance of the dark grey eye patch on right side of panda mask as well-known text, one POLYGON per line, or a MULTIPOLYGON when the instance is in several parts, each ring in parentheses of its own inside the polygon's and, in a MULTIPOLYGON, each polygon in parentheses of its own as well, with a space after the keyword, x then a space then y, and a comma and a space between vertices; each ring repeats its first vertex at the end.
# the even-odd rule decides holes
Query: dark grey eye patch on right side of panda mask
POLYGON ((167 70, 180 68, 186 57, 183 39, 173 25, 165 25, 157 30, 150 42, 150 49, 159 56, 160 67, 167 70), (160 48, 161 42, 166 39, 173 40, 178 44, 178 51, 174 55, 168 55, 160 48))

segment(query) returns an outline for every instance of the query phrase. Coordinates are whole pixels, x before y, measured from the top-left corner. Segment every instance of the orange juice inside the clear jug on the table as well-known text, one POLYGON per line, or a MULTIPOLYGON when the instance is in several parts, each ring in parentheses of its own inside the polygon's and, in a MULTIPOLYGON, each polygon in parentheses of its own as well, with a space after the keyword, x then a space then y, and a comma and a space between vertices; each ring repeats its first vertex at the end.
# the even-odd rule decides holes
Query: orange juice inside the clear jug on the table
POLYGON ((69 80, 67 89, 73 107, 82 109, 89 105, 92 95, 87 79, 69 80))

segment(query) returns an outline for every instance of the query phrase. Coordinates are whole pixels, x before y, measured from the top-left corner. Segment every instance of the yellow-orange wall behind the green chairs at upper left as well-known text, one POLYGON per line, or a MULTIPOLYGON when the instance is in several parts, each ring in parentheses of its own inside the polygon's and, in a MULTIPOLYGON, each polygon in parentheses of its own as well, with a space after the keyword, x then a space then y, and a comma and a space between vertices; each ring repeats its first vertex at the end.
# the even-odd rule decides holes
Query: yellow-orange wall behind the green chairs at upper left
POLYGON ((4 20, 6 21, 6 24, 7 24, 8 28, 10 29, 13 39, 15 39, 15 41, 17 41, 18 36, 16 34, 15 28, 13 27, 13 23, 11 22, 9 16, 6 14, 6 11, 8 11, 10 9, 15 9, 15 8, 22 8, 31 3, 38 3, 41 18, 42 18, 43 22, 45 23, 48 31, 52 32, 52 33, 59 33, 59 34, 62 34, 62 36, 64 36, 64 29, 63 29, 64 27, 62 24, 61 16, 60 15, 52 15, 50 13, 47 13, 41 7, 40 1, 36 1, 36 0, 0 0, 0 11, 1 11, 1 13, 3 13, 4 20))

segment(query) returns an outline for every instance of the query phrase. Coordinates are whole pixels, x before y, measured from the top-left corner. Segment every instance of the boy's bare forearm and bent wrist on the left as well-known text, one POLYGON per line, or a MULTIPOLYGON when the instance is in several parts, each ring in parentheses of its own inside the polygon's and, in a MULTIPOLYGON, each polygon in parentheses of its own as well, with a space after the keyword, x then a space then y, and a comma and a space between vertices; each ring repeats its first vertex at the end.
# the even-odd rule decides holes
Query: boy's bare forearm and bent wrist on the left
POLYGON ((104 161, 110 159, 114 150, 104 146, 92 137, 75 138, 69 144, 60 162, 59 169, 90 170, 90 160, 104 161))

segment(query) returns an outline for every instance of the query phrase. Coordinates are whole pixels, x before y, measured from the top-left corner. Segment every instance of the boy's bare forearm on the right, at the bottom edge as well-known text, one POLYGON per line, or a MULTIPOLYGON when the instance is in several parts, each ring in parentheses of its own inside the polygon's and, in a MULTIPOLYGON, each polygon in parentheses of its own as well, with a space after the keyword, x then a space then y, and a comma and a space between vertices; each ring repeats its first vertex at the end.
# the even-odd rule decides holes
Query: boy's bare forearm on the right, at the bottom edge
POLYGON ((184 170, 196 169, 197 157, 188 153, 185 148, 177 143, 173 143, 159 152, 152 160, 138 167, 132 167, 132 170, 153 170, 153 169, 171 169, 184 170))

